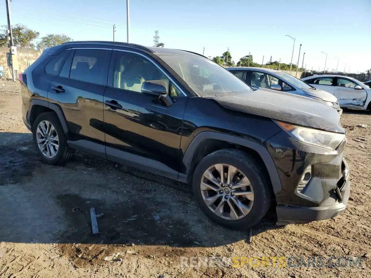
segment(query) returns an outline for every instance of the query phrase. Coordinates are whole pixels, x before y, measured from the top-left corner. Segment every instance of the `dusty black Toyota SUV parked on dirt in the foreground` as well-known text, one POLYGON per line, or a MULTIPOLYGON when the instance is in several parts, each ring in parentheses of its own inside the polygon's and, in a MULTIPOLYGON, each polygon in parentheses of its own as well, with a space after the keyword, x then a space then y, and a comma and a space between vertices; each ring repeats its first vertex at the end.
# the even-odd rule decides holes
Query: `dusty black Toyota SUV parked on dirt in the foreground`
POLYGON ((256 224, 272 203, 283 225, 345 210, 336 110, 254 90, 200 54, 69 42, 45 49, 20 82, 23 120, 46 163, 81 150, 191 183, 201 210, 229 228, 256 224))

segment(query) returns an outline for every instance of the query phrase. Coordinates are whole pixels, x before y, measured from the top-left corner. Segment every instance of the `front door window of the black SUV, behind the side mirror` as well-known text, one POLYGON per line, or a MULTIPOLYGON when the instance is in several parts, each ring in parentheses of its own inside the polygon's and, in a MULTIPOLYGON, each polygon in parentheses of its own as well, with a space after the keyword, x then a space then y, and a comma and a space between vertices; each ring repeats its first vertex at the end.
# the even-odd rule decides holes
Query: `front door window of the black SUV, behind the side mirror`
MULTIPOLYGON (((207 74, 198 72, 199 76, 207 74)), ((170 80, 158 67, 147 58, 130 52, 118 51, 115 56, 114 87, 134 92, 141 92, 142 84, 148 80, 163 80, 169 91, 170 80)), ((180 95, 180 91, 173 85, 170 96, 180 95)))

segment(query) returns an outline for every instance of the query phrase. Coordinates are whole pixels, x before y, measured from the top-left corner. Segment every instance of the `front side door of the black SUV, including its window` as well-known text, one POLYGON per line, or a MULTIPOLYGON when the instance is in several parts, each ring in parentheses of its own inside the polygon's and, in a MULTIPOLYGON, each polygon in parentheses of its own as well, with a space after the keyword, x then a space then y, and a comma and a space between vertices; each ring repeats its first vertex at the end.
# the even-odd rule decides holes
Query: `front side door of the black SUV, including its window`
POLYGON ((104 94, 107 158, 138 168, 145 164, 165 176, 178 171, 187 97, 142 54, 114 51, 110 67, 104 94), (164 80, 172 103, 141 93, 146 80, 164 80))

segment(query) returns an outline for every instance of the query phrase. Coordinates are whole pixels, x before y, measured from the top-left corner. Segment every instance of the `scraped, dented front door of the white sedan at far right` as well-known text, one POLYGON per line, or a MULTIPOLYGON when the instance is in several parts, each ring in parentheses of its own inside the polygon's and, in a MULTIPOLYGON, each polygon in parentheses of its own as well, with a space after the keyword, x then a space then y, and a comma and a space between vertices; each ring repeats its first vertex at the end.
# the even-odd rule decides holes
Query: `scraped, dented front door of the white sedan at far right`
POLYGON ((346 77, 337 77, 335 96, 341 107, 362 108, 367 99, 365 89, 354 89, 358 84, 346 77))

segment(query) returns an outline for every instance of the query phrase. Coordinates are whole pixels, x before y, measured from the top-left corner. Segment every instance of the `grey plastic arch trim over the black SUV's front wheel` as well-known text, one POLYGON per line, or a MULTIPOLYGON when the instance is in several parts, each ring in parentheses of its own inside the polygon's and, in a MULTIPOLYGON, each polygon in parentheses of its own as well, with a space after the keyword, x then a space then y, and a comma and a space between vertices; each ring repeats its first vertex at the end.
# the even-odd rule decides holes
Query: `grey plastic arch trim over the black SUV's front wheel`
POLYGON ((277 195, 282 191, 282 185, 281 181, 276 169, 276 165, 273 162, 272 157, 270 156, 268 150, 259 143, 253 142, 248 139, 244 139, 241 137, 237 137, 234 135, 229 135, 226 133, 219 133, 219 132, 213 132, 213 131, 202 131, 196 135, 196 137, 192 140, 190 145, 188 146, 187 150, 185 151, 185 154, 183 156, 183 163, 185 167, 187 168, 187 174, 179 174, 178 180, 179 181, 186 181, 188 176, 188 169, 190 168, 193 155, 197 149, 197 146, 200 145, 200 143, 205 139, 216 139, 216 140, 222 140, 234 144, 238 144, 241 146, 245 146, 247 148, 255 150, 257 153, 259 153, 260 158, 263 160, 268 174, 270 181, 272 182, 273 186, 273 192, 277 195))

